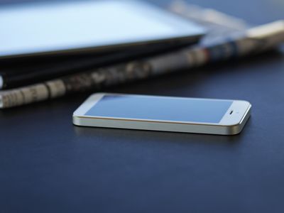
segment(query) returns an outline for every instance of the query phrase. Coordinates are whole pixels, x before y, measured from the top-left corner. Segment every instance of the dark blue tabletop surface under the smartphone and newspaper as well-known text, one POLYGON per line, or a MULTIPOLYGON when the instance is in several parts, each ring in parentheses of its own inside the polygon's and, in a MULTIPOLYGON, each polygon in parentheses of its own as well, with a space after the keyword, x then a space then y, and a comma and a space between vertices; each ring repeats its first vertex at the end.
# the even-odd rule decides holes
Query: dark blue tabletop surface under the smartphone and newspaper
MULTIPOLYGON (((282 0, 191 2, 284 18, 282 0)), ((284 211, 284 51, 107 91, 246 99, 252 116, 213 136, 73 126, 88 94, 0 111, 0 212, 284 211)))

